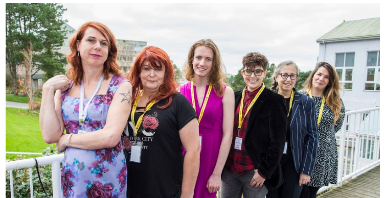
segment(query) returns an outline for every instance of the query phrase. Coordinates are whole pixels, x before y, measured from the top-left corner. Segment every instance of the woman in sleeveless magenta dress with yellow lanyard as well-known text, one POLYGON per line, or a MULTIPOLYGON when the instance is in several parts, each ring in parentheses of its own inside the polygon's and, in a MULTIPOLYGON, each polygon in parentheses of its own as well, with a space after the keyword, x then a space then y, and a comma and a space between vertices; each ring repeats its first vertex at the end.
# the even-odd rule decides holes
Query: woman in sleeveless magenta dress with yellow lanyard
POLYGON ((194 197, 215 197, 232 141, 234 91, 223 84, 224 68, 218 47, 211 39, 191 46, 185 71, 190 82, 180 86, 179 91, 195 106, 201 141, 194 197))

